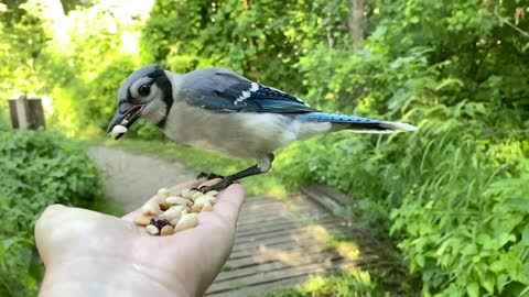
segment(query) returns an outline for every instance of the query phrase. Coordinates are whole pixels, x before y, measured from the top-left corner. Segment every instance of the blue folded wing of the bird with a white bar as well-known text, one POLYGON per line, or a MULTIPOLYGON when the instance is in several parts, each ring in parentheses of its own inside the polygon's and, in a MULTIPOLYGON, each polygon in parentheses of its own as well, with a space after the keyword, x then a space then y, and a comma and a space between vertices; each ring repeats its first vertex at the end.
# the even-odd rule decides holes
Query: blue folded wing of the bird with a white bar
POLYGON ((179 96, 183 96, 190 105, 219 112, 316 111, 292 95, 222 68, 204 68, 186 74, 179 96))

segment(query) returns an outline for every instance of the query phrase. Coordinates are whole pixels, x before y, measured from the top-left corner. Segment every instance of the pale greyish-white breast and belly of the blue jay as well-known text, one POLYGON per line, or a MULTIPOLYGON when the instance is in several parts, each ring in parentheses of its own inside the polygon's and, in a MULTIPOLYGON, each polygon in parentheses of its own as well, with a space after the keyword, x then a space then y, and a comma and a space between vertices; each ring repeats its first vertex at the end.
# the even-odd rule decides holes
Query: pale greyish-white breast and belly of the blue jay
POLYGON ((205 151, 235 157, 258 157, 294 141, 300 131, 291 119, 274 113, 222 113, 175 102, 165 135, 205 151))

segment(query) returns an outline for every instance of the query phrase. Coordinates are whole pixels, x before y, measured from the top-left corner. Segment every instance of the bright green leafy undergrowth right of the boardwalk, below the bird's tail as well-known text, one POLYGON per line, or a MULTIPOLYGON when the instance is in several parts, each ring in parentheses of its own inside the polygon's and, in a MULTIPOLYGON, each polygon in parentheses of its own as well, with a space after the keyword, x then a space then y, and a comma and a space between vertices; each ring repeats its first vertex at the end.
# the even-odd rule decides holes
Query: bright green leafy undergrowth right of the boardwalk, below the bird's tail
POLYGON ((419 132, 319 138, 281 155, 281 169, 359 197, 364 212, 391 229, 412 272, 422 274, 425 296, 522 296, 529 141, 518 125, 529 124, 527 114, 462 102, 415 107, 407 116, 423 119, 419 132))

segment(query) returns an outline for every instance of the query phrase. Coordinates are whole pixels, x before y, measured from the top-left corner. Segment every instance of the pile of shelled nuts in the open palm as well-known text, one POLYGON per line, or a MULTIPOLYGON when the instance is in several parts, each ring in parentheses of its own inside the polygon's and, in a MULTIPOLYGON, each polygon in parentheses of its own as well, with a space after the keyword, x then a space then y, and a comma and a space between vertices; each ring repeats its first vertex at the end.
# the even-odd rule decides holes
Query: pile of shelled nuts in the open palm
POLYGON ((141 208, 142 217, 134 220, 138 226, 145 227, 151 235, 171 235, 198 224, 197 212, 212 211, 218 191, 203 194, 195 189, 183 189, 180 195, 172 196, 170 190, 158 190, 154 199, 141 208))

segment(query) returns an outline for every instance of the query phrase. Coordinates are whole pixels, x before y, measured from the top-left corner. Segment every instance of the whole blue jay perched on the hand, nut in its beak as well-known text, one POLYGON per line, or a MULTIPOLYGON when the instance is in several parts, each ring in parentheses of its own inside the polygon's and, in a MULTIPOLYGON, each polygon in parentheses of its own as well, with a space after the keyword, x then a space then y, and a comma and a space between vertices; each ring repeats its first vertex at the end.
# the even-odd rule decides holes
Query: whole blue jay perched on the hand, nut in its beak
POLYGON ((245 177, 270 170, 274 153, 294 141, 348 130, 359 133, 415 131, 402 122, 320 111, 285 91, 248 79, 222 67, 176 74, 158 65, 131 73, 118 89, 117 111, 107 133, 119 140, 140 118, 156 125, 168 139, 212 153, 255 158, 257 164, 220 177, 198 190, 222 190, 245 177))

